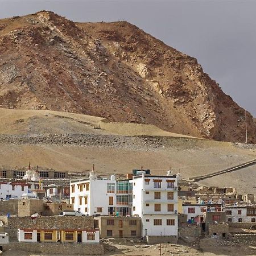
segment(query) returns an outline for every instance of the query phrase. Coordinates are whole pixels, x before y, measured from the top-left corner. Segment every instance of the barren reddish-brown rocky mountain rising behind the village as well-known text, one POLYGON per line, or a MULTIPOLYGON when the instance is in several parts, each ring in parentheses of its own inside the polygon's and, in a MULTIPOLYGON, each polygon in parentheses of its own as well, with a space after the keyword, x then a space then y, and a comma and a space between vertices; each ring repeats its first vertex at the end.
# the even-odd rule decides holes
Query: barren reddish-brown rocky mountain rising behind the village
MULTIPOLYGON (((197 60, 127 22, 73 23, 48 11, 0 20, 0 106, 245 141, 245 111, 197 60)), ((255 143, 249 113, 247 125, 255 143)))

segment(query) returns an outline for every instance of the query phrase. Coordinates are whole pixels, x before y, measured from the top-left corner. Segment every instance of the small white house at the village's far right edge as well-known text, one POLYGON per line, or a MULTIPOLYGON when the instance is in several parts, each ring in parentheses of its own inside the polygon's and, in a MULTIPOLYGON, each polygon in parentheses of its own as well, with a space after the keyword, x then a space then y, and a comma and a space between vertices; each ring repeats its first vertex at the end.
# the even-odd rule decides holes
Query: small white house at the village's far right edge
POLYGON ((255 222, 256 219, 256 206, 227 206, 224 211, 228 222, 255 222))

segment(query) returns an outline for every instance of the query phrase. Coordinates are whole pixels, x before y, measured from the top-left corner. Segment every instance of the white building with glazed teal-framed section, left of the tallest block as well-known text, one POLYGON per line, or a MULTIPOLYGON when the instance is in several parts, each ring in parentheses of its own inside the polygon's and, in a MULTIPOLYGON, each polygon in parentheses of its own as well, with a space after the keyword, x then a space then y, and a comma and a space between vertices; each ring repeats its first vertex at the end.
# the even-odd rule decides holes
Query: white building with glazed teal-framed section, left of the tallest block
POLYGON ((70 202, 74 210, 92 215, 131 214, 131 184, 129 180, 117 181, 98 179, 93 170, 88 179, 73 180, 70 183, 70 202))

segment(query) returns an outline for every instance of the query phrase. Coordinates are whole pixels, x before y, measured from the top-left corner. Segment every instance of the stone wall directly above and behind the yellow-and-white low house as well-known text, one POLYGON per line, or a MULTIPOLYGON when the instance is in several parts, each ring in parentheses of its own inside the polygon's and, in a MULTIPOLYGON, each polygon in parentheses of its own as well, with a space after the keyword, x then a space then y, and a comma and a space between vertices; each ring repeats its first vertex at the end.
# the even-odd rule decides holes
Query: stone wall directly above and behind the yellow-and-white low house
POLYGON ((7 220, 10 241, 17 241, 18 229, 94 229, 91 216, 42 216, 36 218, 36 223, 31 217, 10 217, 7 220))

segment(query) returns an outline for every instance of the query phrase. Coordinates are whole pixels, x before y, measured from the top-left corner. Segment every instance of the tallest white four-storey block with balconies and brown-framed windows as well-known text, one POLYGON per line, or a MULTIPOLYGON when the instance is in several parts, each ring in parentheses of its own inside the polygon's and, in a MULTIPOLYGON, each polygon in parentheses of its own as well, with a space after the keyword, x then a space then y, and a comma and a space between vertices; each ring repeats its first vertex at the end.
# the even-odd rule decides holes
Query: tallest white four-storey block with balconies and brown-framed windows
POLYGON ((142 218, 142 236, 177 236, 176 176, 134 176, 133 216, 142 218))

